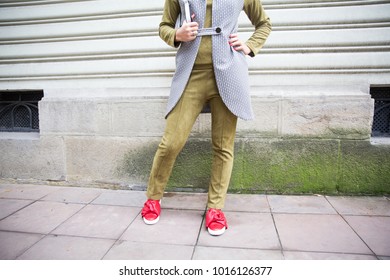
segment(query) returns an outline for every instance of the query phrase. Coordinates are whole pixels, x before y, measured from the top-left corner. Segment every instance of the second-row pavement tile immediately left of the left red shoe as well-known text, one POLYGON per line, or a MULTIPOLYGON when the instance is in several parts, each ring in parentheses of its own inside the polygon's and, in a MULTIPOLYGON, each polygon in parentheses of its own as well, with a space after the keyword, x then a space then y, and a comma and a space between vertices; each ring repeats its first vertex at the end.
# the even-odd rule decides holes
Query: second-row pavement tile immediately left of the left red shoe
POLYGON ((117 239, 139 212, 134 207, 87 205, 53 234, 117 239))

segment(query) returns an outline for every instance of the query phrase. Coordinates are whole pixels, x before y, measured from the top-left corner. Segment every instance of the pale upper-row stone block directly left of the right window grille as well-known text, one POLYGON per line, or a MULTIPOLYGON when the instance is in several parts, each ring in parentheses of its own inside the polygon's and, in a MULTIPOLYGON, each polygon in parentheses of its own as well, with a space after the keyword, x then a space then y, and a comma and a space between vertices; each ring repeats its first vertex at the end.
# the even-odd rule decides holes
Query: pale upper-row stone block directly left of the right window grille
POLYGON ((296 97, 283 100, 282 135, 368 139, 373 100, 369 96, 296 97))

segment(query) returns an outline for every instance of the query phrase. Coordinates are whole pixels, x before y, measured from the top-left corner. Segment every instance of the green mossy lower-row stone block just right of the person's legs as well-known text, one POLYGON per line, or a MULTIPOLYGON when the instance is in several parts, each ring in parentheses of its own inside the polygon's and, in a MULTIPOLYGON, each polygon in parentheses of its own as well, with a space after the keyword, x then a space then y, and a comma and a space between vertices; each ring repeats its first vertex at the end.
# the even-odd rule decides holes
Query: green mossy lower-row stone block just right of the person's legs
POLYGON ((336 141, 243 141, 241 146, 242 162, 236 162, 231 189, 268 193, 335 192, 336 141))

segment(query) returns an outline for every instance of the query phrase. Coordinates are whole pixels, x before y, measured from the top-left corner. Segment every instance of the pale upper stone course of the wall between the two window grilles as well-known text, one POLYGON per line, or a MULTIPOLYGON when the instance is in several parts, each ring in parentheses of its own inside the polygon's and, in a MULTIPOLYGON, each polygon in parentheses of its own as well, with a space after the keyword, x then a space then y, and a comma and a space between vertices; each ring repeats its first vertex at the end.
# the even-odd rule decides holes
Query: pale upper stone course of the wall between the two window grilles
MULTIPOLYGON (((41 135, 161 137, 168 88, 45 91, 41 135)), ((253 87, 256 119, 240 121, 239 137, 369 139, 374 100, 368 86, 253 87)), ((193 135, 209 137, 204 114, 193 135)))

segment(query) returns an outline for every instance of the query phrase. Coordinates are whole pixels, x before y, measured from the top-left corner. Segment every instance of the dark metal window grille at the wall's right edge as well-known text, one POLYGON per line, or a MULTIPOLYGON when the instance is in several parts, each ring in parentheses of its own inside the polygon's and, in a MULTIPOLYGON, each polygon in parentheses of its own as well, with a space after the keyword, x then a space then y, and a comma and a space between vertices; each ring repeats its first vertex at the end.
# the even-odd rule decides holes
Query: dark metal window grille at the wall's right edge
POLYGON ((371 87, 375 100, 372 136, 390 137, 390 87, 371 87))

